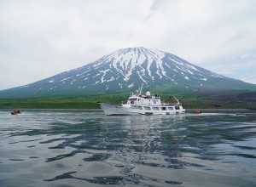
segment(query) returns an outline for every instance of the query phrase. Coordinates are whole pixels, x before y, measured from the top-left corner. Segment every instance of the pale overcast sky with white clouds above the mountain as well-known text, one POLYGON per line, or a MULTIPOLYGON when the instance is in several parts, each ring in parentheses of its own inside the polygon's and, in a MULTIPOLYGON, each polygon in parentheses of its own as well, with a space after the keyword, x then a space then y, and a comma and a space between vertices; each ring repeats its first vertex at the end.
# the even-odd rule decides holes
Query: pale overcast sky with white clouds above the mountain
POLYGON ((256 84, 256 1, 0 0, 0 90, 132 47, 256 84))

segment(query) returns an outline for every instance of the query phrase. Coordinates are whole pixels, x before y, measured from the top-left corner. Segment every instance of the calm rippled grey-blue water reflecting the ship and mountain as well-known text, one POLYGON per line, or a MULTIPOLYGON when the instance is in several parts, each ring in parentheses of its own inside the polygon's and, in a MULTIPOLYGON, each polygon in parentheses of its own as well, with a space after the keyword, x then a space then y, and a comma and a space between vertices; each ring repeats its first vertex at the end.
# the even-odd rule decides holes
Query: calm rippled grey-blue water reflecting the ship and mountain
POLYGON ((256 113, 0 111, 0 186, 256 186, 256 113))

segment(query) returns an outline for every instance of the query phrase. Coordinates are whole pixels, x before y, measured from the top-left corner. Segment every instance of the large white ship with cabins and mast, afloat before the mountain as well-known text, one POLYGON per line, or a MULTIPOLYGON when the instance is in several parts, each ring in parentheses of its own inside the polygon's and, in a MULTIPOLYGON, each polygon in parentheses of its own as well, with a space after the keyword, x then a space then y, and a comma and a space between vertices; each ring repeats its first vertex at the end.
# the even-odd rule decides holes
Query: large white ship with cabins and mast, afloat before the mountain
POLYGON ((146 95, 142 95, 142 89, 139 88, 137 94, 131 94, 128 100, 122 102, 122 105, 110 105, 106 103, 99 103, 104 113, 110 115, 170 115, 176 113, 183 113, 185 109, 181 105, 180 101, 174 96, 170 97, 172 103, 161 103, 160 96, 150 95, 149 92, 146 95))

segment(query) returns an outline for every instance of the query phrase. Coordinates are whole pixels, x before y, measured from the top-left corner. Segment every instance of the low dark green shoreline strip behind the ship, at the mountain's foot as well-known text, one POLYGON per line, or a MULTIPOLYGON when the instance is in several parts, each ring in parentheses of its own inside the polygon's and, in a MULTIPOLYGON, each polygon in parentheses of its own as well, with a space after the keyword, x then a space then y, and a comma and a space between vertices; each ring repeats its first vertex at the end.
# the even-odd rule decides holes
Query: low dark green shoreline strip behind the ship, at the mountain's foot
MULTIPOLYGON (((169 95, 160 94, 162 101, 170 102, 169 95)), ((83 97, 51 97, 0 99, 0 109, 98 109, 97 102, 119 105, 129 94, 90 95, 83 97)), ((256 109, 256 92, 230 94, 176 94, 183 107, 219 109, 256 109)))

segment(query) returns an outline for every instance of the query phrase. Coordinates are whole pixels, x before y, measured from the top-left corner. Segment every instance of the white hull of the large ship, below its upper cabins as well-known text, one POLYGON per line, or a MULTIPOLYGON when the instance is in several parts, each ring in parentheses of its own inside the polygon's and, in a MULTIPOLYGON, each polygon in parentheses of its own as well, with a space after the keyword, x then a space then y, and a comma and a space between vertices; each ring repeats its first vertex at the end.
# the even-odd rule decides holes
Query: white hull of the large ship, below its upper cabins
MULTIPOLYGON (((179 114, 185 112, 182 106, 175 110, 168 110, 168 107, 165 106, 166 110, 164 111, 153 111, 153 110, 145 110, 148 109, 148 105, 142 106, 139 108, 132 108, 132 107, 124 107, 119 105, 111 105, 106 103, 99 103, 100 107, 104 111, 107 116, 133 116, 133 115, 171 115, 171 114, 179 114)), ((156 106, 154 106, 155 108, 156 106)), ((163 106, 157 106, 159 109, 163 108, 163 106)))

